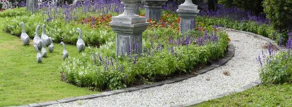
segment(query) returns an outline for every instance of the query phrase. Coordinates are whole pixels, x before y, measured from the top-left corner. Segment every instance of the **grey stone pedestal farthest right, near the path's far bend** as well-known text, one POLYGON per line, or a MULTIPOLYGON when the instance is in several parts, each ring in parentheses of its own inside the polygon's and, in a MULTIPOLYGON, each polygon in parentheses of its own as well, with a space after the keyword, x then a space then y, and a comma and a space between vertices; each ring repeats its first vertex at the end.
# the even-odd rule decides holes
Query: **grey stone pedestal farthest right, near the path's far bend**
POLYGON ((182 33, 195 28, 196 16, 199 12, 198 6, 193 4, 192 0, 185 0, 183 4, 179 5, 177 13, 181 17, 180 31, 182 33))

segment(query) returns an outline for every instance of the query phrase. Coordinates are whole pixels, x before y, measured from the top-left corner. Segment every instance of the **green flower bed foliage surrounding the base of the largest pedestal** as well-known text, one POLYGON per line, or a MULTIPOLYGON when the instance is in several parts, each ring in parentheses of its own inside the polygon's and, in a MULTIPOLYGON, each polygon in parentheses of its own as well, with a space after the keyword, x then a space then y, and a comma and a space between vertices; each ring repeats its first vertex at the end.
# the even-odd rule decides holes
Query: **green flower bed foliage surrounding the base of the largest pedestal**
MULTIPOLYGON (((206 29, 210 29, 208 35, 211 35, 211 26, 206 29)), ((194 38, 198 35, 203 37, 202 34, 191 31, 185 37, 194 38)), ((60 70, 66 75, 67 82, 77 86, 123 89, 135 82, 137 78, 153 82, 155 76, 189 72, 198 63, 206 63, 210 59, 224 55, 228 44, 227 34, 219 31, 217 36, 219 40, 214 43, 205 41, 205 45, 198 46, 197 42, 192 41, 192 44, 177 46, 167 41, 169 37, 173 37, 174 40, 182 37, 173 30, 168 28, 158 28, 156 31, 146 30, 143 33, 145 48, 142 54, 129 55, 125 52, 124 55, 116 57, 115 43, 107 42, 100 48, 88 48, 82 55, 68 58, 60 70), (161 48, 158 48, 159 46, 161 48), (170 48, 173 48, 173 52, 170 48)))

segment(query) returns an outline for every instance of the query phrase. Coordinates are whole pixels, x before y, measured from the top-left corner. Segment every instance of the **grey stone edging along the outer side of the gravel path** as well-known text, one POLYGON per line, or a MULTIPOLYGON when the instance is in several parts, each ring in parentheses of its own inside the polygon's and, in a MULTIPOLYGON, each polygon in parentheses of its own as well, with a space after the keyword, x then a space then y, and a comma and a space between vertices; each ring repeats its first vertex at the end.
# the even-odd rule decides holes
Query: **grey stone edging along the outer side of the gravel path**
MULTIPOLYGON (((270 38, 267 38, 265 36, 261 36, 261 35, 257 35, 257 34, 254 34, 254 33, 250 33, 250 32, 245 32, 245 31, 239 31, 239 30, 235 30, 235 29, 230 29, 230 28, 224 28, 224 27, 219 27, 220 29, 222 30, 225 30, 225 31, 234 31, 234 32, 239 32, 239 33, 243 33, 243 34, 247 34, 247 35, 251 35, 251 36, 254 36, 256 38, 260 38, 260 39, 263 39, 263 40, 266 40, 268 41, 268 43, 271 43, 273 44, 274 46, 278 46, 274 40, 270 39, 270 38)), ((230 91, 230 92, 225 92, 225 93, 222 93, 222 94, 219 94, 219 95, 215 95, 215 96, 211 96, 211 97, 208 97, 208 98, 203 98, 201 100, 197 100, 197 101, 194 101, 194 102, 190 102, 190 103, 187 103, 187 104, 182 104, 182 105, 176 105, 176 106, 171 106, 171 107, 188 107, 188 106, 194 106, 194 105, 198 105, 198 104, 201 104, 205 101, 208 101, 208 100, 214 100, 214 99, 219 99, 221 97, 224 97, 224 96, 227 96, 227 95, 230 95, 232 93, 239 93, 239 92, 242 92, 246 89, 251 89, 252 87, 256 87, 258 86, 259 84, 261 84, 261 81, 259 79, 256 79, 255 81, 251 82, 250 84, 246 85, 246 86, 243 86, 242 88, 239 88, 239 89, 236 89, 236 90, 233 90, 233 91, 230 91)))

